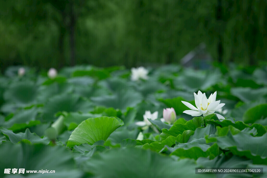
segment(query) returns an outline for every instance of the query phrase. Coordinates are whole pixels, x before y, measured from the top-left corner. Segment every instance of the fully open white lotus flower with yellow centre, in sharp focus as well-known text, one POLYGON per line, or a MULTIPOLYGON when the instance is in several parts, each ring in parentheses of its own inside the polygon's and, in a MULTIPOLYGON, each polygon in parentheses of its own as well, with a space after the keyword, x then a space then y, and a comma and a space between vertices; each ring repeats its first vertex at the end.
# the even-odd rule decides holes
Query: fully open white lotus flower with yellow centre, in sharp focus
MULTIPOLYGON (((198 94, 194 93, 195 96, 195 106, 190 104, 189 102, 182 101, 184 105, 189 107, 192 110, 185 110, 183 113, 189 114, 191 116, 200 116, 203 114, 204 116, 207 116, 209 114, 213 114, 215 111, 219 110, 224 106, 224 103, 220 103, 221 100, 216 101, 216 95, 217 92, 214 92, 210 95, 209 99, 207 99, 206 94, 202 93, 201 91, 198 91, 198 94)), ((217 117, 219 119, 225 119, 222 115, 217 114, 217 117)))

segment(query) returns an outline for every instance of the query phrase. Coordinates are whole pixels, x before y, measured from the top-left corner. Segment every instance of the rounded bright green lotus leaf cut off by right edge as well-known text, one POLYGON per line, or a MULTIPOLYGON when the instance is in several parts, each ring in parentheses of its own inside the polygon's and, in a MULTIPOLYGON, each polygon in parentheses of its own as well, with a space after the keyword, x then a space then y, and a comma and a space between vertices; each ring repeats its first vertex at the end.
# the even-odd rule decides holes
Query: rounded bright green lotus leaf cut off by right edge
POLYGON ((248 109, 243 115, 245 123, 254 123, 256 120, 267 117, 267 104, 257 105, 254 108, 248 109))

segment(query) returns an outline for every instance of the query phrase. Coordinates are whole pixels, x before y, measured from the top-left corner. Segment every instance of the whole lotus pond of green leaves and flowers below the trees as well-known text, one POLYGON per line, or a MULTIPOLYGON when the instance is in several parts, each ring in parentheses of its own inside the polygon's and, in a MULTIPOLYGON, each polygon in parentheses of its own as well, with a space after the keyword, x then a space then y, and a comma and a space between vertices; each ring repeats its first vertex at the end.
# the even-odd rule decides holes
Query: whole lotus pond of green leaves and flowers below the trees
POLYGON ((267 177, 267 67, 9 67, 0 125, 0 177, 267 177))

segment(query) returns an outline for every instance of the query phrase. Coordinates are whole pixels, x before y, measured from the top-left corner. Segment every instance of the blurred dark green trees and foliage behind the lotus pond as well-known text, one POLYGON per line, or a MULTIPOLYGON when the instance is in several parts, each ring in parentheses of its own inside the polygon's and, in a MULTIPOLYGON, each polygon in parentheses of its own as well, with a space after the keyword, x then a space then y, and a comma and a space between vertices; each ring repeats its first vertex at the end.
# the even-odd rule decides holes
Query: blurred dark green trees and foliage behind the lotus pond
POLYGON ((267 58, 265 0, 2 0, 0 65, 179 63, 202 42, 214 60, 267 58))

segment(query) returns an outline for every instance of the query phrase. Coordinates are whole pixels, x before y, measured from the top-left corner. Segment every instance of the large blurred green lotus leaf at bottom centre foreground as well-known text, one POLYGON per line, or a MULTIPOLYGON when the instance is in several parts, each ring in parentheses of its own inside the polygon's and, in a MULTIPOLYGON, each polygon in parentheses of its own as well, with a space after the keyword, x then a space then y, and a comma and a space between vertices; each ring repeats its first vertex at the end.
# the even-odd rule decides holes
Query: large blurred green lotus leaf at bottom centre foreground
MULTIPOLYGON (((96 178, 110 177, 209 177, 195 175, 192 160, 174 160, 150 150, 138 148, 111 149, 94 155, 83 163, 84 170, 96 178)), ((214 177, 214 176, 211 176, 214 177)))

